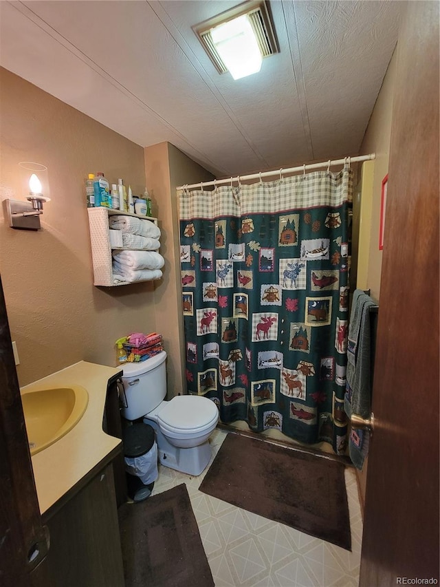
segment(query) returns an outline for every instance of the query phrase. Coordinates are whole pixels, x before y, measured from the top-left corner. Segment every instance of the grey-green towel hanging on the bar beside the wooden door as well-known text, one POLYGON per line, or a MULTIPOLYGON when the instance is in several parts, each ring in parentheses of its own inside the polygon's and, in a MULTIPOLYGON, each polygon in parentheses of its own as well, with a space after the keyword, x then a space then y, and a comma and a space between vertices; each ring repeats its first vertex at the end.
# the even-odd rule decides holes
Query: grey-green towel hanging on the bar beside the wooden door
MULTIPOLYGON (((349 345, 347 348, 347 383, 344 410, 350 418, 358 414, 369 418, 371 414, 371 324, 370 308, 374 301, 362 290, 355 290, 351 306, 349 345)), ((369 450, 370 432, 352 429, 349 440, 349 455, 353 465, 362 469, 369 450)))

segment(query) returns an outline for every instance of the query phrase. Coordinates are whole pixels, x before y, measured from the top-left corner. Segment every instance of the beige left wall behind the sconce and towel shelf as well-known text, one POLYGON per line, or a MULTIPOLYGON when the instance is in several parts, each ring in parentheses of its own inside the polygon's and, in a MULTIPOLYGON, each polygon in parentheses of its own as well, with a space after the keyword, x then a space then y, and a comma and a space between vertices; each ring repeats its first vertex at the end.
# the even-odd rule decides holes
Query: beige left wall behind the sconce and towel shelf
POLYGON ((104 171, 144 191, 142 147, 0 70, 0 199, 24 199, 18 163, 47 165, 52 201, 43 230, 17 231, 0 211, 0 272, 20 385, 85 359, 115 365, 113 343, 156 328, 155 293, 164 287, 93 285, 85 184, 104 171))

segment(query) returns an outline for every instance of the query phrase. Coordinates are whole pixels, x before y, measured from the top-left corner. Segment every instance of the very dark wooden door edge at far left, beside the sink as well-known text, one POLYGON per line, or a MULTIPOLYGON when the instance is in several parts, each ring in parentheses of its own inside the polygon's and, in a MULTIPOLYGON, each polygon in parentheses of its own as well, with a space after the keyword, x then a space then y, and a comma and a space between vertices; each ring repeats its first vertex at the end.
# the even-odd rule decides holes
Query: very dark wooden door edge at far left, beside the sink
POLYGON ((0 585, 50 587, 21 406, 19 382, 0 280, 0 585))

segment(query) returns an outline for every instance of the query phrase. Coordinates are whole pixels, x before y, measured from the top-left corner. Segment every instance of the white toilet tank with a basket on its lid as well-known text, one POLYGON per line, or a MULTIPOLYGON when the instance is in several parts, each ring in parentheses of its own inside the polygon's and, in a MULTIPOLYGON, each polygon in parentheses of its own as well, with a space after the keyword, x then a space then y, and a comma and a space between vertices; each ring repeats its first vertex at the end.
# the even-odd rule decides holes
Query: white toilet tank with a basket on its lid
POLYGON ((122 416, 137 420, 155 409, 166 398, 166 352, 161 351, 151 359, 139 363, 125 363, 122 383, 124 395, 122 416))

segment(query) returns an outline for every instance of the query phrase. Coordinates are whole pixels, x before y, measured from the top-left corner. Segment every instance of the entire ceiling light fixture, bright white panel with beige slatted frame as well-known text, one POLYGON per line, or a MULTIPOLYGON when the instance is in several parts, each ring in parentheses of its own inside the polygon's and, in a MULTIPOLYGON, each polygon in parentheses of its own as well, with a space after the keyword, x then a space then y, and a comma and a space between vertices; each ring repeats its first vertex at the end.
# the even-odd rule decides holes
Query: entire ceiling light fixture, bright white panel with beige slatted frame
POLYGON ((266 3, 249 1, 192 27, 220 74, 234 80, 261 69, 263 57, 278 52, 266 3))

